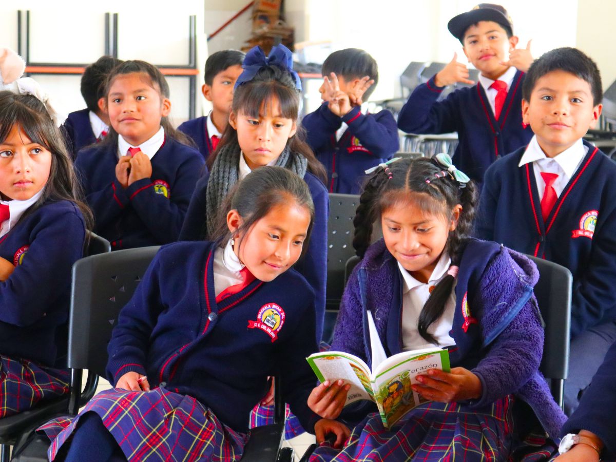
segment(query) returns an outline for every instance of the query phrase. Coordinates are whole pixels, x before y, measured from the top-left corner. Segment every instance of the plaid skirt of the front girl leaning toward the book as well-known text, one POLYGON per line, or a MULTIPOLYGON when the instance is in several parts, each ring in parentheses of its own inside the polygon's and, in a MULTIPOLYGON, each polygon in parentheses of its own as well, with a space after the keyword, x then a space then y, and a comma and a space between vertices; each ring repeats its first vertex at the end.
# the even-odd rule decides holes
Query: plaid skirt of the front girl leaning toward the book
POLYGON ((232 462, 240 460, 248 435, 233 431, 193 397, 162 387, 152 391, 100 392, 75 418, 47 422, 37 431, 52 440, 49 460, 71 436, 79 417, 95 412, 129 461, 232 462))

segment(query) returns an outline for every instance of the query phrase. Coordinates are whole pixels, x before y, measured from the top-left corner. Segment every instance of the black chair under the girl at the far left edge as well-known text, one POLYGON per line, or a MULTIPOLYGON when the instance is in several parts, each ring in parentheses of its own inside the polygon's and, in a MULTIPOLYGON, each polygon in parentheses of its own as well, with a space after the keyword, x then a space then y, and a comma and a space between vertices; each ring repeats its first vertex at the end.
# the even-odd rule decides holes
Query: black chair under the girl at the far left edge
MULTIPOLYGON (((95 254, 111 252, 111 244, 105 238, 88 232, 84 257, 95 254)), ((36 428, 39 424, 57 415, 62 415, 68 408, 68 396, 40 403, 38 406, 16 415, 0 419, 0 461, 7 462, 10 458, 10 446, 17 442, 23 432, 36 428)))

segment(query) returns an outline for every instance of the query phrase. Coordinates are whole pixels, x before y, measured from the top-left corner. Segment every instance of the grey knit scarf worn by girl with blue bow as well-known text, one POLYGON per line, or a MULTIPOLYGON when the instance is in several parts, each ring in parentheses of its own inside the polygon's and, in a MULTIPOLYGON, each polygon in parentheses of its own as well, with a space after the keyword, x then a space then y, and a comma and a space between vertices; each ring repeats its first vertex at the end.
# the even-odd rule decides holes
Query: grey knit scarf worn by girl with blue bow
MULTIPOLYGON (((223 146, 214 160, 209 172, 208 188, 206 191, 206 230, 202 234, 209 238, 214 232, 220 213, 222 202, 237 183, 240 166, 241 149, 237 141, 223 146)), ((276 165, 289 169, 303 178, 308 168, 308 160, 299 153, 292 153, 289 147, 280 154, 276 165)))

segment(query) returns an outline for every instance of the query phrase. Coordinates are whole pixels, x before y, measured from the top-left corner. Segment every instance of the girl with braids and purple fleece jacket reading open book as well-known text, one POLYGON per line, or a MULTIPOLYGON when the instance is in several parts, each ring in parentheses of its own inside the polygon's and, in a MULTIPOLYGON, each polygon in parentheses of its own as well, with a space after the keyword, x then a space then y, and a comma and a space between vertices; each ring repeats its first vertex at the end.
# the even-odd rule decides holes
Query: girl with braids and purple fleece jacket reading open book
POLYGON ((368 180, 354 219, 362 261, 331 349, 371 366, 439 346, 452 368, 419 375, 412 388, 428 402, 389 429, 372 402, 342 410, 348 384, 320 384, 310 408, 354 429, 341 451, 323 442, 311 460, 540 460, 556 450, 551 438, 565 416, 538 371, 537 269, 522 254, 471 238, 475 206, 475 185, 447 155, 381 164, 368 180), (377 219, 383 238, 370 245, 377 219))

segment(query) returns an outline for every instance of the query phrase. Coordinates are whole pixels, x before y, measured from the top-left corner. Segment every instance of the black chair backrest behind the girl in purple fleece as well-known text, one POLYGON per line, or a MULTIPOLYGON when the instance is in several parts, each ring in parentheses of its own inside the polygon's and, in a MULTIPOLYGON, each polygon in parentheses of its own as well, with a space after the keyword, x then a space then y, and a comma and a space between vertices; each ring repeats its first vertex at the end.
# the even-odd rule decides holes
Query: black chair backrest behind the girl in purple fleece
POLYGON ((569 371, 571 272, 551 261, 527 255, 539 270, 535 297, 545 321, 545 342, 540 370, 546 378, 566 379, 569 371))

